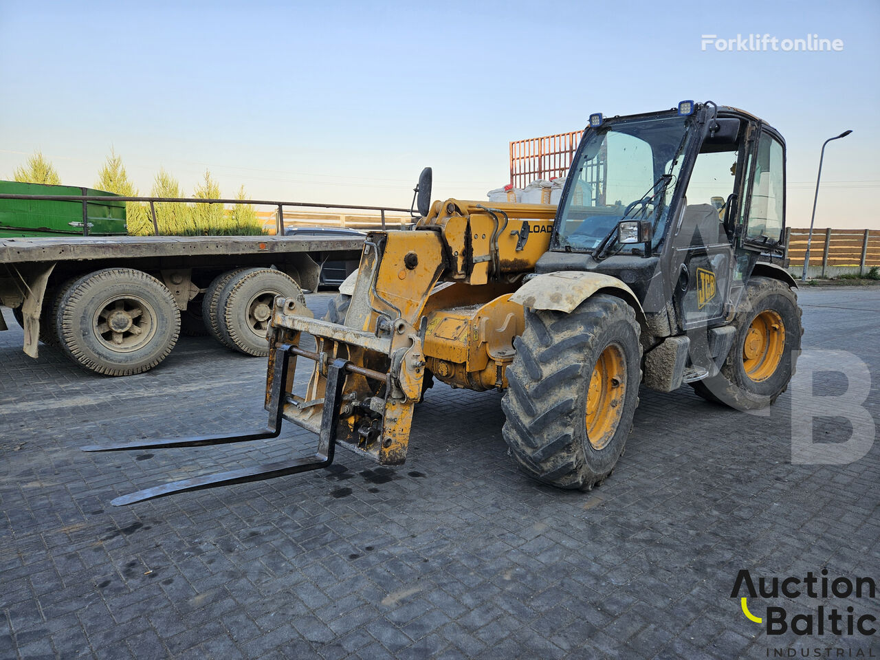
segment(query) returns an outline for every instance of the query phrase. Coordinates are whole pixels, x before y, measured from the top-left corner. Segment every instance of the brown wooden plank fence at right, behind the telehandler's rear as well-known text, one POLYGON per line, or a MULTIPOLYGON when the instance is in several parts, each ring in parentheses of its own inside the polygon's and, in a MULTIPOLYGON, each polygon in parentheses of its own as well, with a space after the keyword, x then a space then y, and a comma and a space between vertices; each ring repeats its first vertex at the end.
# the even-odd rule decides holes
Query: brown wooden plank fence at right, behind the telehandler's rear
MULTIPOLYGON (((809 235, 809 229, 786 230, 789 268, 803 268, 809 235)), ((865 273, 874 266, 880 267, 880 230, 813 229, 811 271, 824 277, 847 271, 865 273)))

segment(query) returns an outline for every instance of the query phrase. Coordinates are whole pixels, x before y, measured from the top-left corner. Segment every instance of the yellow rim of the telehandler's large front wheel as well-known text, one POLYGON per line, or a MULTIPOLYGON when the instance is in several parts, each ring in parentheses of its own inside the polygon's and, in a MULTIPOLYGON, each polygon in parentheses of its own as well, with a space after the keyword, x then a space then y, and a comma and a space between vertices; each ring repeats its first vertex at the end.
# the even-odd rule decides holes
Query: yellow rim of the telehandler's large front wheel
POLYGON ((611 442, 623 414, 627 392, 627 362, 617 344, 605 347, 593 367, 587 391, 587 439, 600 450, 611 442))

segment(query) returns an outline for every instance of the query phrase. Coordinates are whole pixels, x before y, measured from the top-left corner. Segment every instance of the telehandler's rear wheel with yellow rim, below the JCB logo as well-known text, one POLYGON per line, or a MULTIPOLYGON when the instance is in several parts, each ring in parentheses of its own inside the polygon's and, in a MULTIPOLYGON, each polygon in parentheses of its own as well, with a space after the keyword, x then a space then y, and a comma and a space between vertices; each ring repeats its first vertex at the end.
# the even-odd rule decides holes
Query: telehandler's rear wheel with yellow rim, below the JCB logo
POLYGON ((737 334, 717 376, 691 383, 703 399, 737 410, 773 404, 795 374, 801 308, 788 284, 753 277, 733 319, 737 334))

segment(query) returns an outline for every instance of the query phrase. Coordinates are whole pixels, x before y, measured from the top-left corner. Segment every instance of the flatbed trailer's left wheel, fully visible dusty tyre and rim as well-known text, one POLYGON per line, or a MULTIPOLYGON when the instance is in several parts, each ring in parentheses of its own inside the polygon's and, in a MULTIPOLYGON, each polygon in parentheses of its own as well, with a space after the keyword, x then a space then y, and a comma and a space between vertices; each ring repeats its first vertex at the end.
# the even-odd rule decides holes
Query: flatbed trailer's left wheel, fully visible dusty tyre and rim
POLYGON ((59 304, 62 348, 107 376, 150 370, 180 334, 180 310, 162 282, 133 268, 105 268, 73 282, 59 304))

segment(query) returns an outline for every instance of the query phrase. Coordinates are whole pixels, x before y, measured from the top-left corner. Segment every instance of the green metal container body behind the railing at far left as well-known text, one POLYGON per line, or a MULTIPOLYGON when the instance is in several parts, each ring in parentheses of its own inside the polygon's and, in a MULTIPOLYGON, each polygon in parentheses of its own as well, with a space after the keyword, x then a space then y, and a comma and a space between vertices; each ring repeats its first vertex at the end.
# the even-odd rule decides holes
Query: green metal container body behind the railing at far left
MULTIPOLYGON (((0 181, 0 194, 118 195, 76 186, 0 181)), ((57 202, 0 199, 0 238, 37 236, 124 236, 125 202, 57 202), (83 208, 85 207, 85 208, 83 208)))

